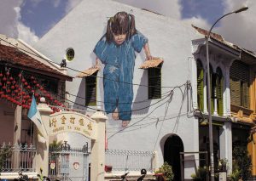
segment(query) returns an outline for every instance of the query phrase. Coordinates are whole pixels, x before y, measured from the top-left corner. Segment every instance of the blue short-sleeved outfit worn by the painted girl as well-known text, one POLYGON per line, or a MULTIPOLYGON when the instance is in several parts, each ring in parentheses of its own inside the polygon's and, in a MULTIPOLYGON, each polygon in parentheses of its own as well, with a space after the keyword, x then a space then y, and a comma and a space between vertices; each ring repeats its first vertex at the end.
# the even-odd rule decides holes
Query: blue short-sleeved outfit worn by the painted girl
POLYGON ((121 45, 117 45, 114 41, 108 43, 106 36, 103 36, 94 48, 94 53, 105 65, 103 71, 105 111, 112 113, 118 108, 120 120, 131 120, 135 51, 140 53, 146 42, 148 38, 137 32, 121 45))

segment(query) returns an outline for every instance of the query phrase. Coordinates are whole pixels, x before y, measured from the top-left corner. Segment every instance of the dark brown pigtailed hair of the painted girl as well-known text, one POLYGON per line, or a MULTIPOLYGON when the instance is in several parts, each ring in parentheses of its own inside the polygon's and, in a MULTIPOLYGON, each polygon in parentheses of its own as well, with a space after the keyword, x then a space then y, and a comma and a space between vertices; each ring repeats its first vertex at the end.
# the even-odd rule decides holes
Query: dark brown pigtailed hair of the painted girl
POLYGON ((131 36, 137 33, 135 27, 135 18, 132 14, 126 12, 119 12, 113 17, 109 18, 107 25, 107 42, 113 40, 113 34, 127 34, 126 39, 130 39, 131 36))

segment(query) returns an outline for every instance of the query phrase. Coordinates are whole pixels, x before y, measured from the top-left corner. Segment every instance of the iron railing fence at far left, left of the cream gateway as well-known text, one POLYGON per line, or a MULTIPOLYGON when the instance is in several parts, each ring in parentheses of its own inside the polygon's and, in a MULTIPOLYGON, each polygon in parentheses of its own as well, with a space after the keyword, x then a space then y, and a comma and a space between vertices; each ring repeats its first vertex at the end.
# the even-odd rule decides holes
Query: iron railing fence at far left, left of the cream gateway
POLYGON ((32 144, 2 144, 0 169, 2 173, 35 172, 36 147, 32 144))

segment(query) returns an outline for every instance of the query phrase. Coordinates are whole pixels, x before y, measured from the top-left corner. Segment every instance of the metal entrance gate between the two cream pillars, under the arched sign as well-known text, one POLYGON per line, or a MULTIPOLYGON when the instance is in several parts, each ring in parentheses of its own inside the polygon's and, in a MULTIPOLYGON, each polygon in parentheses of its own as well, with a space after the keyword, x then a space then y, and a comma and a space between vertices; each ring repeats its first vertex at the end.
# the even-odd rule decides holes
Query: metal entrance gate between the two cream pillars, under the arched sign
POLYGON ((71 148, 67 141, 49 147, 49 178, 89 180, 88 143, 83 148, 71 148))

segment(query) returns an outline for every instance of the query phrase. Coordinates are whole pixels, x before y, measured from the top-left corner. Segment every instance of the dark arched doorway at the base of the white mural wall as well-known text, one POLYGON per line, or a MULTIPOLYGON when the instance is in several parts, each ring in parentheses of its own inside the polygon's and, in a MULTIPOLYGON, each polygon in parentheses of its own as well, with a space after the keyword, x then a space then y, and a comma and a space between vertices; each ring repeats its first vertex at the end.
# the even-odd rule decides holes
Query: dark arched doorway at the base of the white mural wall
POLYGON ((181 180, 180 152, 184 151, 183 141, 177 135, 172 135, 166 139, 164 146, 164 161, 172 166, 174 180, 181 180))

